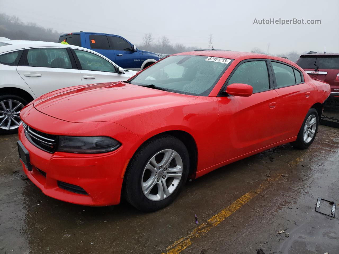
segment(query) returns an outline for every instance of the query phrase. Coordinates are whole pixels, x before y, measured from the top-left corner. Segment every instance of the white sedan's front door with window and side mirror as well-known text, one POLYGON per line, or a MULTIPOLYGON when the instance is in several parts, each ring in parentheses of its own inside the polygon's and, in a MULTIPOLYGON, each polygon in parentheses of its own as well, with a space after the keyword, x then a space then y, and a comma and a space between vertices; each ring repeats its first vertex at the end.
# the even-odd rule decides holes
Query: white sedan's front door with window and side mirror
POLYGON ((129 79, 126 74, 117 73, 117 66, 97 54, 80 49, 72 49, 72 53, 75 56, 84 85, 129 79))

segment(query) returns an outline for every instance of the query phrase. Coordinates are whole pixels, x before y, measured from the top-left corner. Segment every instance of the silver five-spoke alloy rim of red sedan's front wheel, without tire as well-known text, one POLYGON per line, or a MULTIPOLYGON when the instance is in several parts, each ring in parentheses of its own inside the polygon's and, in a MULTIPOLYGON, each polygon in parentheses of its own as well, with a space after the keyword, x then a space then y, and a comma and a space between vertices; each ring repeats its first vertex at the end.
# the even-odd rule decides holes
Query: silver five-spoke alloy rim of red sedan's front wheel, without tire
POLYGON ((154 154, 142 173, 144 195, 153 201, 171 195, 180 183, 182 169, 182 159, 176 151, 165 149, 154 154))

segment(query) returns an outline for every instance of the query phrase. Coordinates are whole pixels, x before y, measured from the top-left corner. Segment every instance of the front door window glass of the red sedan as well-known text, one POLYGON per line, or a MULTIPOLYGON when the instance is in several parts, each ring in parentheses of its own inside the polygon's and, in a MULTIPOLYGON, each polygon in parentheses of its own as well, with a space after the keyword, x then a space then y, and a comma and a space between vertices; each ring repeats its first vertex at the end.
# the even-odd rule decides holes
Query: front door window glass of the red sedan
POLYGON ((243 83, 253 86, 253 92, 270 88, 266 61, 250 61, 241 64, 228 84, 243 83))

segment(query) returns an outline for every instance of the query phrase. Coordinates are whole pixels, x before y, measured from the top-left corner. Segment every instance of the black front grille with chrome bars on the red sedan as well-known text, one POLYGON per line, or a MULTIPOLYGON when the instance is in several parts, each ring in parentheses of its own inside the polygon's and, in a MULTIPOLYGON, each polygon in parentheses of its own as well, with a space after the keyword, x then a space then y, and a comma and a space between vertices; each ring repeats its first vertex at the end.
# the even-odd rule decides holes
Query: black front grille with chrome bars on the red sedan
POLYGON ((22 122, 27 139, 36 147, 49 153, 54 153, 57 146, 57 136, 33 129, 22 122))

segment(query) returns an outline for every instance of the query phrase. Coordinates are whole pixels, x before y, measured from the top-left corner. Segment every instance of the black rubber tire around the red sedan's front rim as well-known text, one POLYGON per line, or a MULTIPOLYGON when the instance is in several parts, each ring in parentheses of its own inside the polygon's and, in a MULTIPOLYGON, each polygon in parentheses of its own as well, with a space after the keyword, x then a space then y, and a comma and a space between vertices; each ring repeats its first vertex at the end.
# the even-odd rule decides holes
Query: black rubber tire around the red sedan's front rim
POLYGON ((190 160, 187 148, 179 139, 172 135, 153 138, 137 150, 128 164, 124 176, 123 194, 125 199, 132 206, 144 212, 162 209, 171 204, 180 193, 187 180, 189 168, 190 160), (156 153, 165 149, 173 149, 180 155, 183 165, 182 176, 176 189, 174 189, 168 197, 159 201, 150 200, 142 191, 141 181, 143 172, 149 160, 151 160, 156 153))

